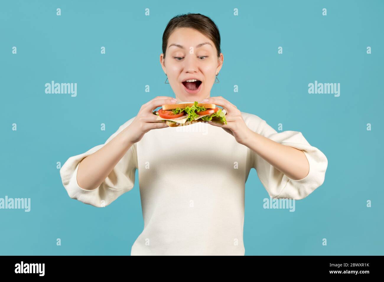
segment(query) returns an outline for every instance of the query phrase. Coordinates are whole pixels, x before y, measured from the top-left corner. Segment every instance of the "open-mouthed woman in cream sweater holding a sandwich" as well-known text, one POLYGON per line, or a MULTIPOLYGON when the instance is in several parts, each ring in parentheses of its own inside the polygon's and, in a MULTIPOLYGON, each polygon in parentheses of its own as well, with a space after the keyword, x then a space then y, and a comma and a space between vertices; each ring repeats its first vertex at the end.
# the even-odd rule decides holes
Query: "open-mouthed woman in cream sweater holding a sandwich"
POLYGON ((277 133, 257 115, 210 97, 223 54, 218 28, 207 16, 172 18, 162 51, 175 99, 148 101, 104 144, 70 157, 60 170, 63 185, 73 199, 107 206, 133 188, 137 169, 144 230, 131 255, 244 255, 250 169, 270 197, 299 200, 323 184, 328 160, 300 132, 277 133), (187 79, 201 85, 196 89, 187 79), (201 122, 180 130, 156 120, 154 109, 176 101, 221 106, 227 124, 208 122, 203 134, 201 122))

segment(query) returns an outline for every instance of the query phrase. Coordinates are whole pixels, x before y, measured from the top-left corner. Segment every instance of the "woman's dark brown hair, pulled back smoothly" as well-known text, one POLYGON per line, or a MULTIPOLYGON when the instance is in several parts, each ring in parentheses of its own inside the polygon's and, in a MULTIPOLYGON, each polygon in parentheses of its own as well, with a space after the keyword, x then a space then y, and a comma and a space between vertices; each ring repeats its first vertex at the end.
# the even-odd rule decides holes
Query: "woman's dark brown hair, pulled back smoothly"
POLYGON ((193 28, 200 33, 207 36, 215 44, 217 57, 220 56, 220 32, 217 25, 209 17, 202 14, 182 14, 174 16, 168 23, 163 33, 163 54, 166 57, 166 49, 168 45, 169 36, 176 28, 193 28))

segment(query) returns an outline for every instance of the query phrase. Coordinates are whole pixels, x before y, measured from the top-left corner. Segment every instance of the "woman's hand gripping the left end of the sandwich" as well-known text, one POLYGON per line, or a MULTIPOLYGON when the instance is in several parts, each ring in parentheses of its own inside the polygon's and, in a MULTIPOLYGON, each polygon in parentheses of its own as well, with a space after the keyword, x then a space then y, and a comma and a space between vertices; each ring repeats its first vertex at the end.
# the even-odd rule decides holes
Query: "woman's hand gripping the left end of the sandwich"
POLYGON ((157 115, 152 114, 153 110, 165 104, 174 104, 177 100, 169 96, 157 96, 156 98, 148 101, 141 106, 135 119, 128 125, 124 131, 128 142, 139 142, 144 134, 151 129, 159 129, 168 127, 168 125, 161 120, 156 120, 157 115))

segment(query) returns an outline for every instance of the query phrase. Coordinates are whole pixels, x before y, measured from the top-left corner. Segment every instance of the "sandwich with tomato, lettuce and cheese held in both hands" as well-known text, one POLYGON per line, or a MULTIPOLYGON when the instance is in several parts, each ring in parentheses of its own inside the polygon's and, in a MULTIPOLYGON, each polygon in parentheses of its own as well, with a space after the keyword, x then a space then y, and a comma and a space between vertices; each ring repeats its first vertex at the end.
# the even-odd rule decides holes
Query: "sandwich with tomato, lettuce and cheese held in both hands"
POLYGON ((177 102, 175 104, 166 104, 162 109, 152 112, 157 115, 157 120, 164 120, 168 126, 183 126, 194 124, 196 122, 208 122, 217 120, 227 124, 225 114, 227 111, 216 107, 215 104, 195 102, 177 102))

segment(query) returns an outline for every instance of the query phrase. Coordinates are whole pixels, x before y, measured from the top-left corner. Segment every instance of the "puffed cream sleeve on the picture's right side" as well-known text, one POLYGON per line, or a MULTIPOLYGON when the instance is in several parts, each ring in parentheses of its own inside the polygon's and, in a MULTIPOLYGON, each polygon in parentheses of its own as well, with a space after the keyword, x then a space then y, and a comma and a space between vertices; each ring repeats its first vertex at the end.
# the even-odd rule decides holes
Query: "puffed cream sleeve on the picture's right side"
POLYGON ((277 133, 265 120, 262 120, 257 133, 280 144, 303 150, 310 166, 307 176, 300 180, 293 180, 251 150, 253 168, 256 169, 260 181, 271 198, 300 200, 323 184, 328 160, 323 152, 308 143, 301 132, 287 130, 277 133))

